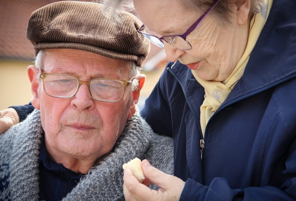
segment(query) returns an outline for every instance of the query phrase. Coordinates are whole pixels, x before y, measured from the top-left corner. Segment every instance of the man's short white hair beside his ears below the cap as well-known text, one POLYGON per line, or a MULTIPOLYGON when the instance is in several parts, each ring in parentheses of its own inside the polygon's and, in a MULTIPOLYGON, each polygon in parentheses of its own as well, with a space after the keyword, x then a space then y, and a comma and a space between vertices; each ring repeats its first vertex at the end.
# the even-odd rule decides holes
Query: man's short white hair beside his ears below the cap
MULTIPOLYGON (((41 70, 43 69, 44 57, 45 57, 44 51, 40 50, 34 60, 36 68, 41 70)), ((140 72, 141 72, 141 67, 136 66, 136 63, 131 61, 130 78, 140 75, 140 72)), ((40 80, 39 76, 37 76, 37 80, 38 81, 40 80)), ((139 86, 139 80, 133 79, 133 81, 131 82, 131 91, 135 91, 138 86, 139 86)))

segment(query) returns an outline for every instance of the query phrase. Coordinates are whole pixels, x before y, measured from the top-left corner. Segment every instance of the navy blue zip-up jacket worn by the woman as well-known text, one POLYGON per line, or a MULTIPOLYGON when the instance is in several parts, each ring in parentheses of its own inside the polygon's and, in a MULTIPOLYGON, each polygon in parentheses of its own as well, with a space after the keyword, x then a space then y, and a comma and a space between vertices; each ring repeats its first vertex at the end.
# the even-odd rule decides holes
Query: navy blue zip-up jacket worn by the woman
POLYGON ((180 200, 296 199, 295 11, 295 0, 273 1, 242 78, 204 138, 204 88, 185 65, 166 66, 141 114, 155 132, 173 135, 175 176, 186 181, 180 200))

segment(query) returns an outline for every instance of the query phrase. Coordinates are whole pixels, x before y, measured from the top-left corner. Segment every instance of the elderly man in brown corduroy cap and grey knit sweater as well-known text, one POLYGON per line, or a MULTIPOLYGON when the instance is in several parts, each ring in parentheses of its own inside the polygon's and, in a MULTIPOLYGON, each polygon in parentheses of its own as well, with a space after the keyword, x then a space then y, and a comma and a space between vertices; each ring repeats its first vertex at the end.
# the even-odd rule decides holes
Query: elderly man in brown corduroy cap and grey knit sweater
POLYGON ((172 140, 136 109, 149 51, 140 25, 127 12, 109 23, 91 2, 33 12, 36 110, 0 135, 0 200, 124 200, 122 164, 134 157, 172 174, 172 140))

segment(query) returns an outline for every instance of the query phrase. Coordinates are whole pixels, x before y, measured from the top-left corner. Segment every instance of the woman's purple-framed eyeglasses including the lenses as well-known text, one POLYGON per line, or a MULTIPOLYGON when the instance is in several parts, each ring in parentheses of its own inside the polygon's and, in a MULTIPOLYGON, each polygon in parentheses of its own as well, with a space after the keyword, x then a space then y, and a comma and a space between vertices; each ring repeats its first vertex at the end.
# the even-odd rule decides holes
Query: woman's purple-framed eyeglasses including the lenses
POLYGON ((221 0, 216 0, 183 34, 177 35, 165 35, 162 37, 157 37, 155 35, 148 34, 144 32, 145 25, 143 24, 139 29, 138 32, 143 34, 147 37, 152 43, 157 45, 158 47, 164 48, 163 40, 168 44, 174 46, 180 50, 191 50, 192 46, 188 41, 186 41, 186 37, 195 30, 202 20, 209 14, 209 12, 220 2, 221 0))

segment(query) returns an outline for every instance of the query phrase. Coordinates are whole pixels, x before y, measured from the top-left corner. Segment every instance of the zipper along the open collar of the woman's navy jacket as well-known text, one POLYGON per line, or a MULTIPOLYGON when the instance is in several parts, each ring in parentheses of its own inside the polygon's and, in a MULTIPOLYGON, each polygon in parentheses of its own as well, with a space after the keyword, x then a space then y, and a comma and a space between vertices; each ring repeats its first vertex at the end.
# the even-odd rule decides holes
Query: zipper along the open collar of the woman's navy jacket
POLYGON ((184 96, 185 96, 186 101, 187 101, 187 104, 188 104, 190 110, 192 111, 193 116, 194 116, 194 119, 195 119, 195 122, 197 123, 198 129, 200 130, 200 137, 201 137, 201 138, 200 138, 200 139, 201 139, 201 140, 200 140, 200 153, 201 153, 201 160, 202 160, 202 161, 203 161, 203 159, 204 159, 203 156, 205 155, 205 142, 206 142, 206 139, 207 139, 207 128, 208 128, 209 122, 211 121, 211 119, 213 118, 213 116, 215 116, 215 114, 217 114, 218 112, 220 112, 221 110, 223 110, 224 108, 228 107, 228 106, 231 105, 231 104, 234 104, 234 103, 239 102, 239 101, 241 101, 241 100, 243 100, 243 99, 249 98, 249 97, 251 97, 251 96, 253 96, 253 95, 259 94, 259 93, 261 93, 261 92, 263 92, 263 91, 265 91, 265 90, 268 90, 268 89, 270 89, 270 88, 272 88, 272 87, 274 87, 274 86, 276 86, 276 85, 278 85, 278 84, 281 84, 281 83, 283 83, 283 82, 285 82, 285 81, 287 81, 287 80, 289 80, 289 79, 292 79, 292 78, 295 78, 295 77, 296 77, 296 75, 292 75, 292 76, 290 76, 290 77, 288 77, 288 78, 286 78, 286 79, 284 79, 284 80, 278 81, 278 82, 274 83, 273 85, 271 85, 271 86, 267 86, 266 88, 263 88, 263 89, 261 89, 261 90, 259 90, 259 91, 255 91, 255 92, 253 92, 252 94, 249 94, 249 95, 247 95, 247 96, 245 96, 245 97, 242 97, 242 98, 240 98, 240 99, 238 99, 238 100, 233 100, 232 102, 229 102, 228 104, 226 104, 226 105, 224 105, 223 107, 219 108, 219 109, 213 114, 213 116, 210 117, 210 119, 209 119, 209 121, 207 122, 207 125, 206 125, 206 127, 205 127, 205 135, 202 136, 202 131, 201 131, 200 125, 198 124, 198 121, 197 121, 197 119, 198 119, 198 118, 197 118, 197 114, 196 114, 195 110, 193 109, 192 104, 191 104, 190 101, 188 100, 187 94, 186 94, 186 92, 185 92, 185 90, 184 90, 184 85, 183 85, 183 83, 181 82, 181 80, 178 78, 178 76, 176 75, 176 73, 174 73, 173 70, 171 70, 171 68, 173 68, 173 66, 175 66, 175 64, 176 64, 177 62, 178 62, 178 61, 176 61, 175 63, 173 63, 173 65, 172 65, 171 67, 167 67, 167 69, 168 69, 168 71, 169 71, 170 73, 172 73, 172 75, 176 78, 176 80, 177 80, 177 81, 179 82, 179 84, 181 85, 182 90, 183 90, 183 93, 184 93, 184 96))

